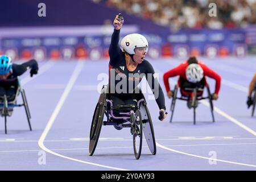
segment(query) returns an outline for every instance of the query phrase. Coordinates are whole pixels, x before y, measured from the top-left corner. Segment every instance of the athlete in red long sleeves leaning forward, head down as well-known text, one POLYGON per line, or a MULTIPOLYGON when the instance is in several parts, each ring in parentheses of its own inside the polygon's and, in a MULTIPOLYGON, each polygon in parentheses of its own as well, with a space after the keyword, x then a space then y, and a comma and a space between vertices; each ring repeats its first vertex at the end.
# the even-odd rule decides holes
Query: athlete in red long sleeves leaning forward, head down
MULTIPOLYGON (((213 100, 218 99, 218 92, 220 91, 221 77, 218 73, 207 67, 201 61, 198 61, 196 57, 189 57, 187 61, 184 61, 177 67, 170 69, 163 75, 164 85, 166 86, 166 92, 168 98, 171 98, 173 92, 171 91, 168 78, 179 76, 180 91, 183 96, 191 97, 192 91, 187 91, 185 88, 204 88, 205 76, 216 80, 215 91, 212 94, 213 100)), ((198 92, 197 96, 201 96, 203 92, 198 92)))

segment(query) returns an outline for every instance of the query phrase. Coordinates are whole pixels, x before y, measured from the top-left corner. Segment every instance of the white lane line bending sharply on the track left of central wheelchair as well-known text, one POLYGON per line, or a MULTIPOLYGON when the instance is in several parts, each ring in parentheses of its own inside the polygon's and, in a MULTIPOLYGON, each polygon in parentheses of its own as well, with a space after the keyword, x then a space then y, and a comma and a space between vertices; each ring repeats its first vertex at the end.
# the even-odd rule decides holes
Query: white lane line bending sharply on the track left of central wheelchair
POLYGON ((79 160, 79 159, 75 159, 75 158, 70 158, 68 156, 64 156, 61 154, 58 154, 57 152, 53 152, 52 150, 49 150, 46 146, 44 146, 44 139, 46 139, 47 134, 49 133, 49 130, 51 129, 53 122, 55 121, 55 118, 57 117, 57 115, 60 112, 61 107, 63 106, 66 98, 68 97, 69 92, 71 91, 73 85, 75 84, 75 81, 77 79, 77 77, 79 76, 80 72, 82 71, 82 67, 84 65, 84 61, 78 61, 75 70, 72 73, 71 78, 68 81, 68 84, 63 92, 63 94, 60 97, 60 101, 58 102, 57 106, 55 107, 55 110, 53 111, 51 118, 49 119, 46 127, 44 128, 44 131, 41 135, 41 137, 38 140, 38 145, 40 148, 42 148, 44 151, 59 156, 60 158, 65 158, 65 159, 69 159, 69 160, 73 160, 76 162, 80 162, 80 163, 85 163, 85 164, 90 164, 93 166, 98 166, 98 167, 104 167, 104 168, 109 168, 109 169, 116 169, 116 170, 127 170, 127 169, 122 169, 122 168, 116 168, 116 167, 111 167, 111 166, 105 166, 105 165, 101 165, 101 164, 96 164, 96 163, 90 163, 90 162, 86 162, 84 160, 79 160))

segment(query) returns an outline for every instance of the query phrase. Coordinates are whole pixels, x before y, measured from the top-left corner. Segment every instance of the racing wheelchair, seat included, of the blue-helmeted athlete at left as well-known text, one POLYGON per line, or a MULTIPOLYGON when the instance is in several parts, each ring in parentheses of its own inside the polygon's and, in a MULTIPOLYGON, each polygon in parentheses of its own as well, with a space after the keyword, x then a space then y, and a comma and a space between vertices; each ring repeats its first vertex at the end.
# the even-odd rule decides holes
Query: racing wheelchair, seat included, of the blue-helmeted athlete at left
POLYGON ((13 114, 13 109, 14 107, 20 107, 24 106, 26 115, 27 115, 27 121, 28 121, 28 126, 31 129, 31 115, 30 115, 30 110, 28 108, 27 104, 27 98, 24 89, 20 85, 20 80, 19 77, 14 78, 13 80, 8 80, 8 81, 0 81, 1 85, 9 85, 13 89, 15 89, 15 93, 12 96, 2 96, 0 98, 0 115, 2 117, 5 117, 5 134, 7 134, 7 117, 10 117, 13 114), (21 94, 23 104, 17 104, 17 98, 21 94))

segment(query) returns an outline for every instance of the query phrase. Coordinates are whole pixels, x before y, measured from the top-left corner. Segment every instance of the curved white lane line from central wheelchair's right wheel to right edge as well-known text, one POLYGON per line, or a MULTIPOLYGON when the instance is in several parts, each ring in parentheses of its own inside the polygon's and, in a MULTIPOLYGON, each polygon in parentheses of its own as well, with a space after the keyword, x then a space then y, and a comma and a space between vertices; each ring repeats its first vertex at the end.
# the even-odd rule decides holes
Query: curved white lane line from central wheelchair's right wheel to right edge
POLYGON ((158 146, 158 147, 160 147, 160 148, 163 148, 163 149, 165 149, 165 150, 168 150, 168 151, 172 151, 172 152, 179 153, 179 154, 183 154, 183 155, 192 156, 192 157, 195 157, 195 158, 201 158, 201 159, 207 159, 207 160, 214 160, 214 161, 218 161, 218 162, 229 163, 229 164, 237 164, 237 165, 241 165, 241 166, 256 167, 256 165, 253 165, 253 164, 237 163, 237 162, 232 162, 232 161, 228 161, 228 160, 207 158, 207 157, 200 156, 200 155, 189 154, 189 153, 186 153, 186 152, 182 152, 182 151, 178 151, 178 150, 174 150, 174 149, 172 149, 172 148, 168 148, 168 147, 162 146, 162 144, 159 144, 158 142, 156 142, 156 146, 158 146))

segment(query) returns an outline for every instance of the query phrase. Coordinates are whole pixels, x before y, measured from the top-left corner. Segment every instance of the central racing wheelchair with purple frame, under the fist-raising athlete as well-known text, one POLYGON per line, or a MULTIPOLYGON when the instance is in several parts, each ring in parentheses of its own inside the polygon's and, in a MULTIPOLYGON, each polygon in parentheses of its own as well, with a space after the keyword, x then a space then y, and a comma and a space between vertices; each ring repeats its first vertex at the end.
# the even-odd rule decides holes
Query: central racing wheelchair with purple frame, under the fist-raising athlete
POLYGON ((109 100, 108 85, 104 85, 100 98, 94 110, 92 125, 90 127, 89 155, 92 156, 98 139, 100 137, 101 126, 112 125, 117 130, 125 127, 130 128, 133 135, 133 148, 136 159, 139 159, 142 151, 142 137, 146 138, 148 148, 152 155, 156 154, 156 143, 154 128, 147 108, 147 102, 143 94, 138 94, 137 105, 115 105, 109 100), (118 114, 114 114, 114 111, 118 114), (104 121, 104 115, 106 121, 104 121))

